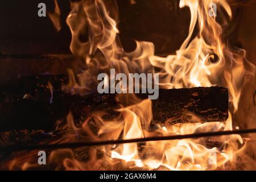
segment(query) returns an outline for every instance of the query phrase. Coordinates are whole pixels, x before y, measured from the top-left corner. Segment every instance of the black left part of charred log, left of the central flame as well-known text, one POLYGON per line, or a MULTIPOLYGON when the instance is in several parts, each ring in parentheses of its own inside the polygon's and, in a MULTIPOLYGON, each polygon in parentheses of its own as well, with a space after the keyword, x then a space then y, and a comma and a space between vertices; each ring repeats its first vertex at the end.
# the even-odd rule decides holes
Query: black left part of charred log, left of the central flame
POLYGON ((0 132, 12 130, 54 130, 57 119, 65 119, 72 111, 75 121, 85 119, 96 110, 114 116, 115 94, 92 94, 81 97, 61 91, 66 76, 19 78, 0 88, 0 132), (48 88, 53 87, 53 95, 48 88), (52 102, 51 102, 52 97, 52 102))

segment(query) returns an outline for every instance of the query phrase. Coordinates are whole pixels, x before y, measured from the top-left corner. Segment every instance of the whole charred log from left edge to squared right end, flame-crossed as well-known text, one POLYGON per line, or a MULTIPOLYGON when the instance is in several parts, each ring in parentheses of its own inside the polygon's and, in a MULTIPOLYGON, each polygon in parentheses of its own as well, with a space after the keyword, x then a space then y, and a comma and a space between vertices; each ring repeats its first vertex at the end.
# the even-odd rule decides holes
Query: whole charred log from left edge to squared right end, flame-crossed
MULTIPOLYGON (((57 119, 65 118, 70 110, 75 121, 90 117, 94 111, 106 111, 105 118, 118 115, 115 109, 120 103, 116 94, 72 96, 61 91, 63 82, 65 78, 54 76, 30 77, 22 78, 16 88, 5 88, 9 98, 0 104, 0 131, 53 130, 57 119), (49 81, 53 85, 53 96, 47 88, 49 81), (25 93, 27 97, 23 99, 25 93)), ((4 93, 2 98, 6 96, 4 93)), ((142 99, 147 96, 138 94, 142 99)), ((228 118, 228 89, 219 86, 159 89, 159 98, 152 100, 152 107, 152 123, 191 122, 195 115, 205 122, 225 121, 228 118)))

